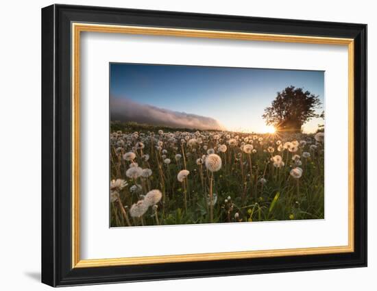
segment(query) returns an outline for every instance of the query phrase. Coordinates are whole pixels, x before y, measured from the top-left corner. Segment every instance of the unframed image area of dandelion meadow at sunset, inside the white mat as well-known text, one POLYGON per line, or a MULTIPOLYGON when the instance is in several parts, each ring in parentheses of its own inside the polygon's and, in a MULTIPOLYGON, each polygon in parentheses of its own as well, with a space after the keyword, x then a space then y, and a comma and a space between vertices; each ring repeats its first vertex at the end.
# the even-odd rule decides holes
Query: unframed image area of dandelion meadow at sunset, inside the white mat
POLYGON ((324 219, 324 71, 110 63, 110 227, 324 219))

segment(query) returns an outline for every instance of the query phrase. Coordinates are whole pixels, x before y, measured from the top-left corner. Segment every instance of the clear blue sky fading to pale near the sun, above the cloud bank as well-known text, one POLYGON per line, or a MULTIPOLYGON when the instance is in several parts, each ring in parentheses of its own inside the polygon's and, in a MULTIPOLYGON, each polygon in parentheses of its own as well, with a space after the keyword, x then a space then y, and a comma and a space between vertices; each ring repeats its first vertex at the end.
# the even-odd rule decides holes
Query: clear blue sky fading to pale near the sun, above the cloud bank
MULTIPOLYGON (((112 98, 208 116, 231 131, 265 131, 265 107, 291 85, 319 95, 324 107, 323 71, 110 64, 112 98)), ((304 131, 318 123, 323 120, 306 123, 304 131)))

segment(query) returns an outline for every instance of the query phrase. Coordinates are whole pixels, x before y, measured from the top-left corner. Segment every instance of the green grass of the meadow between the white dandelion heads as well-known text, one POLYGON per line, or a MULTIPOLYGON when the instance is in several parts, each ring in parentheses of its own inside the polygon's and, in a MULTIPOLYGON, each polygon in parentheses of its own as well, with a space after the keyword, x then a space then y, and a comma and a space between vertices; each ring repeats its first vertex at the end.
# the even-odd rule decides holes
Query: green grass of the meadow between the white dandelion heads
MULTIPOLYGON (((263 144, 253 146, 256 153, 251 154, 252 176, 250 177, 250 164, 247 153, 240 149, 241 140, 245 137, 252 137, 254 134, 223 133, 219 131, 200 131, 204 136, 202 144, 189 147, 180 145, 180 138, 176 138, 175 144, 171 143, 168 133, 178 136, 178 131, 186 131, 186 135, 192 138, 195 135, 193 129, 173 129, 169 127, 154 127, 151 125, 140 125, 137 123, 111 123, 111 132, 122 131, 117 138, 112 136, 110 146, 111 179, 124 179, 127 186, 119 191, 121 204, 125 207, 125 215, 130 220, 131 225, 182 225, 195 223, 210 223, 210 207, 208 207, 208 194, 210 188, 210 172, 205 164, 196 164, 196 160, 202 155, 206 155, 204 145, 208 149, 216 147, 216 140, 213 134, 221 135, 219 144, 226 144, 228 149, 225 153, 217 153, 221 157, 221 170, 213 173, 213 193, 217 194, 217 202, 213 205, 213 223, 234 223, 234 222, 256 222, 271 220, 301 220, 324 218, 324 153, 323 144, 317 144, 316 150, 311 150, 310 145, 298 147, 297 152, 291 153, 287 149, 278 151, 278 140, 291 142, 293 140, 312 140, 313 135, 304 134, 283 134, 283 135, 261 135, 263 144), (163 135, 158 134, 158 130, 164 131, 163 135), (138 131, 138 137, 132 134, 138 131), (230 147, 227 143, 226 135, 239 136, 236 146, 230 147), (123 136, 124 135, 124 136, 123 136), (125 145, 119 147, 117 142, 123 140, 125 145), (166 158, 171 160, 171 164, 163 163, 162 151, 156 149, 156 141, 162 141, 162 149, 167 150, 166 158), (143 142, 145 148, 133 150, 136 142, 143 142), (273 147, 274 152, 265 152, 267 147, 273 147), (180 162, 175 161, 175 154, 191 153, 189 157, 183 157, 180 162), (193 152, 193 149, 195 152, 193 152), (130 167, 130 162, 123 160, 123 154, 134 151, 136 158, 134 162, 141 168, 151 168, 151 177, 145 179, 138 177, 130 179, 125 175, 130 167), (301 156, 302 177, 295 179, 290 175, 295 162, 292 156, 302 155, 302 152, 311 153, 311 157, 305 159, 301 156), (143 161, 141 154, 149 154, 148 162, 143 161), (285 165, 282 168, 275 168, 271 157, 281 155, 285 165), (184 185, 178 181, 177 175, 184 168, 190 171, 186 179, 187 211, 184 206, 184 185), (160 167, 159 167, 160 165, 160 167), (202 170, 201 170, 202 168, 202 170), (201 175, 202 171, 202 175, 201 175), (260 179, 267 180, 265 184, 260 183, 260 179), (130 187, 140 185, 141 191, 132 192, 130 187), (158 210, 149 207, 142 218, 132 218, 130 207, 137 201, 143 200, 143 195, 148 189, 158 189, 162 192, 162 199, 158 203, 158 210), (228 199, 230 197, 230 199, 228 199), (238 217, 235 214, 238 213, 238 217), (157 218, 156 219, 156 215, 157 218)), ((250 142, 246 142, 250 143, 250 142)), ((127 226, 125 217, 122 214, 120 203, 113 202, 111 205, 111 226, 127 226)))

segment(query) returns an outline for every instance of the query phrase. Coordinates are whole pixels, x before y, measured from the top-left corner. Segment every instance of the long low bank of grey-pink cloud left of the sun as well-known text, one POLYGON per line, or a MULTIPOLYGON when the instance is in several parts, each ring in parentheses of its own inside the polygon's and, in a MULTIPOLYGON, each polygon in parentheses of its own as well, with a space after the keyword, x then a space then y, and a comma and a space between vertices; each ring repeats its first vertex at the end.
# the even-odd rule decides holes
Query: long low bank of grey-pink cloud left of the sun
POLYGON ((150 125, 201 130, 225 130, 225 127, 214 118, 175 112, 151 105, 139 104, 124 98, 110 97, 110 117, 112 121, 134 121, 150 125))

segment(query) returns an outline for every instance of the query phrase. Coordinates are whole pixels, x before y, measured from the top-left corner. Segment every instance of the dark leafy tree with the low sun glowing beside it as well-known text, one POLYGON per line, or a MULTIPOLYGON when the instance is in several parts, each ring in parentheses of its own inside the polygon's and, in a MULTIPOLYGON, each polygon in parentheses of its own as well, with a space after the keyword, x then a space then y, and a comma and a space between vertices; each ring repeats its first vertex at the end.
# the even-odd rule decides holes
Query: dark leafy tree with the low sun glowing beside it
POLYGON ((321 101, 311 92, 289 86, 277 94, 262 116, 266 124, 273 125, 277 131, 301 131, 306 121, 319 117, 315 109, 321 101))

